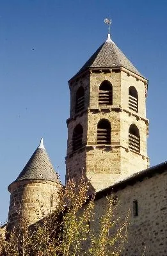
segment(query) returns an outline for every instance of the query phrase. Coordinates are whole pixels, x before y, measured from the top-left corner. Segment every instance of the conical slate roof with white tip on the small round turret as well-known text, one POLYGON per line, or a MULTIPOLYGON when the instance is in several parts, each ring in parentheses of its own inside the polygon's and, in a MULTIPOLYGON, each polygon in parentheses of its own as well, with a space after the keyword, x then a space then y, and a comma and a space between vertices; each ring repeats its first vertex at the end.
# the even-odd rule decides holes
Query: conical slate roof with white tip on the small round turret
POLYGON ((43 145, 43 139, 41 139, 39 147, 36 148, 15 182, 27 179, 49 180, 60 183, 58 173, 54 171, 51 160, 43 145))

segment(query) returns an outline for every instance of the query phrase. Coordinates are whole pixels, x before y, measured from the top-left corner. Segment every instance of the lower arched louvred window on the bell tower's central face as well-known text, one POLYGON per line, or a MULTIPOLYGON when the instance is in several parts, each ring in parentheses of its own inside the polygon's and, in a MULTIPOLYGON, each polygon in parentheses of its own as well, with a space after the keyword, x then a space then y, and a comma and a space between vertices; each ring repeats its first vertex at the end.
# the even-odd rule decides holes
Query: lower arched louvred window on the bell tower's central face
POLYGON ((102 119, 97 124, 97 145, 111 144, 111 124, 108 120, 102 119))

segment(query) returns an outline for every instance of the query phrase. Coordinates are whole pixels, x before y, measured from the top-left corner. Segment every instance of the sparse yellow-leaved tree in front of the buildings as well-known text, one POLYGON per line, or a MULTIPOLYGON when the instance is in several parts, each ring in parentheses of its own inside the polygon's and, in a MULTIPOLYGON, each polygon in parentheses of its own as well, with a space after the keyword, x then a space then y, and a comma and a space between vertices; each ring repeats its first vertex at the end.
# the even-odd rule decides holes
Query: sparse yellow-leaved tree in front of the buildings
POLYGON ((88 191, 84 179, 79 184, 70 180, 59 193, 56 209, 52 209, 51 198, 49 214, 38 223, 28 227, 20 216, 21 225, 16 224, 12 230, 7 225, 5 238, 0 232, 0 255, 120 255, 127 241, 129 214, 123 222, 115 220, 118 202, 110 195, 103 214, 95 218, 95 195, 90 196, 88 191))

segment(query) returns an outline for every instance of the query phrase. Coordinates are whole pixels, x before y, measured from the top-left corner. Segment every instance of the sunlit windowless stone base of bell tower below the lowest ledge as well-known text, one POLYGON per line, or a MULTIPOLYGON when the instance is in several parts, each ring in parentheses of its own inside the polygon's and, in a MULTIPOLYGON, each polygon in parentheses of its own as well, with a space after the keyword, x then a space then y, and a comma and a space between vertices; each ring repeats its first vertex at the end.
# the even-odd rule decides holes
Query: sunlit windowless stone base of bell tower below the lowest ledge
POLYGON ((148 159, 125 148, 95 148, 86 153, 86 176, 96 191, 145 170, 148 159))

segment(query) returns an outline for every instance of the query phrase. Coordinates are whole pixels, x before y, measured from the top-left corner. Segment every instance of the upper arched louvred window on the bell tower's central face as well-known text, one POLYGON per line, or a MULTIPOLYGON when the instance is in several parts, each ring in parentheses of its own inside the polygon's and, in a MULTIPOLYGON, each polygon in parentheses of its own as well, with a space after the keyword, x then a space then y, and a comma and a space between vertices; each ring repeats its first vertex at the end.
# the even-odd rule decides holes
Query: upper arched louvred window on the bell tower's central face
POLYGON ((113 86, 109 81, 105 80, 99 87, 99 105, 113 104, 113 86))

